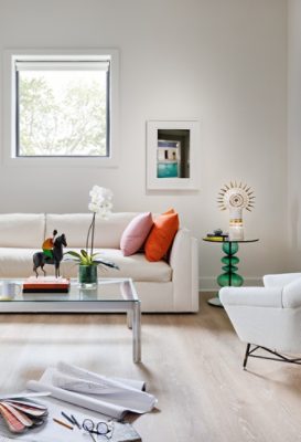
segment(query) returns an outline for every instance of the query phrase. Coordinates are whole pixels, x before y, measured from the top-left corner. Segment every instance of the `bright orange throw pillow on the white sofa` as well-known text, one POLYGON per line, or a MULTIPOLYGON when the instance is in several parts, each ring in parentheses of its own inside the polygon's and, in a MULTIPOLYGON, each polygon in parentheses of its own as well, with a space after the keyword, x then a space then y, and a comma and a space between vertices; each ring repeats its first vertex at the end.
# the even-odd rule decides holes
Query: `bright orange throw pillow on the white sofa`
POLYGON ((155 218, 152 230, 144 245, 147 260, 162 260, 162 257, 168 253, 178 230, 179 217, 173 209, 155 218))

